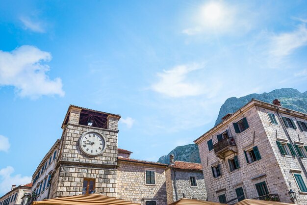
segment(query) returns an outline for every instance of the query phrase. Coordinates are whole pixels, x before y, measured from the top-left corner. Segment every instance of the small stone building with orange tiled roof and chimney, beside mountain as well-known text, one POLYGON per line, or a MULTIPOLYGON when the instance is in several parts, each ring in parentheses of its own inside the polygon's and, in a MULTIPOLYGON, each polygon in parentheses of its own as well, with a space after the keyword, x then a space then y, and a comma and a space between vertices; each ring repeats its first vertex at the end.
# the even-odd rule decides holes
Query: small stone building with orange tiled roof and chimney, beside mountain
POLYGON ((181 198, 206 200, 205 180, 201 164, 175 161, 165 168, 165 176, 167 204, 181 198))

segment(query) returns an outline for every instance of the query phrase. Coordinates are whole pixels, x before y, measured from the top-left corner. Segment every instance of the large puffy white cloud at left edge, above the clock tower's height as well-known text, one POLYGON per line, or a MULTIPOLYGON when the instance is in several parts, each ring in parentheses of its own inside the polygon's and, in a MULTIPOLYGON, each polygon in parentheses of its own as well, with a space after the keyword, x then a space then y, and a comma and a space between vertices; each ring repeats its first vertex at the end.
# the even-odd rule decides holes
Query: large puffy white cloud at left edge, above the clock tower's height
POLYGON ((51 60, 51 53, 34 46, 21 46, 14 51, 0 51, 0 86, 14 86, 21 97, 42 95, 64 96, 61 78, 51 80, 50 67, 43 62, 51 60))

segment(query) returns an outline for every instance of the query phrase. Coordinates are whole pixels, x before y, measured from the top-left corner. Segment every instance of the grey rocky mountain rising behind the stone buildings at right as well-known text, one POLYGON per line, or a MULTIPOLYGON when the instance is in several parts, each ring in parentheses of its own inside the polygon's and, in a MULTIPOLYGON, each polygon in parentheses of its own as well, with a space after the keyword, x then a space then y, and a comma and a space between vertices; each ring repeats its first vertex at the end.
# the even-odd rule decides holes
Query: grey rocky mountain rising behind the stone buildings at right
MULTIPOLYGON (((272 103, 274 99, 279 99, 281 106, 307 113, 307 91, 301 93, 293 88, 281 88, 273 90, 269 93, 250 94, 240 98, 229 98, 221 106, 218 117, 215 121, 215 126, 219 124, 227 113, 234 113, 236 110, 250 102, 252 99, 272 103)), ((200 156, 196 144, 189 144, 176 147, 169 154, 161 156, 158 162, 169 164, 170 154, 174 154, 175 160, 200 163, 200 156)))

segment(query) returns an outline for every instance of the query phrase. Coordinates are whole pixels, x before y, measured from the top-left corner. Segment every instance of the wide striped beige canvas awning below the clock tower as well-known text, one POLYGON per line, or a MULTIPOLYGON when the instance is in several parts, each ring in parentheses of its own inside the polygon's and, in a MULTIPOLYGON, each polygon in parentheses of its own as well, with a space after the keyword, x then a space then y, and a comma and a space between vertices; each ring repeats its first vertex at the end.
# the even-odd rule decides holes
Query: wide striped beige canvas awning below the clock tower
POLYGON ((99 194, 85 194, 70 197, 45 199, 33 202, 32 205, 140 205, 115 197, 102 196, 99 194))

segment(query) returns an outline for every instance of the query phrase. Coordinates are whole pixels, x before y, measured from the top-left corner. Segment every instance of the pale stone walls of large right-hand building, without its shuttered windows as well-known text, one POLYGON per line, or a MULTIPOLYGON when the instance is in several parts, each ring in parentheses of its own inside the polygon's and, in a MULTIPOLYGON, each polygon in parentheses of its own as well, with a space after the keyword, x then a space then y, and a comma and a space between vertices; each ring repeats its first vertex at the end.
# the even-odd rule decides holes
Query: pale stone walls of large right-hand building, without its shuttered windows
MULTIPOLYGON (((307 183, 304 173, 307 158, 283 155, 277 145, 277 141, 281 140, 285 143, 298 141, 300 145, 306 146, 307 132, 299 128, 285 128, 279 114, 282 117, 293 119, 295 123, 297 120, 307 121, 306 114, 252 100, 195 141, 199 146, 209 201, 219 202, 218 197, 223 194, 226 200, 230 201, 237 197, 235 189, 238 188, 242 188, 245 198, 257 198, 259 194, 256 184, 265 182, 269 194, 277 194, 281 202, 291 202, 288 192, 292 189, 297 193, 296 203, 307 204, 307 193, 300 191, 294 179, 294 173, 300 173, 307 183), (278 125, 271 123, 268 112, 275 114, 278 125), (243 118, 246 118, 249 128, 236 133, 233 123, 243 118), (227 152, 225 158, 217 157, 218 151, 209 150, 208 141, 212 140, 215 146, 218 145, 217 135, 226 130, 230 137, 234 137, 236 146, 232 146, 235 148, 228 146, 228 151, 233 151, 227 152), (261 159, 248 163, 245 153, 254 147, 257 147, 261 159), (230 171, 228 159, 234 156, 237 157, 239 168, 230 171), (303 161, 303 167, 299 160, 303 161), (212 168, 217 165, 221 176, 214 178, 212 168)), ((232 201, 234 202, 237 200, 232 201)))

